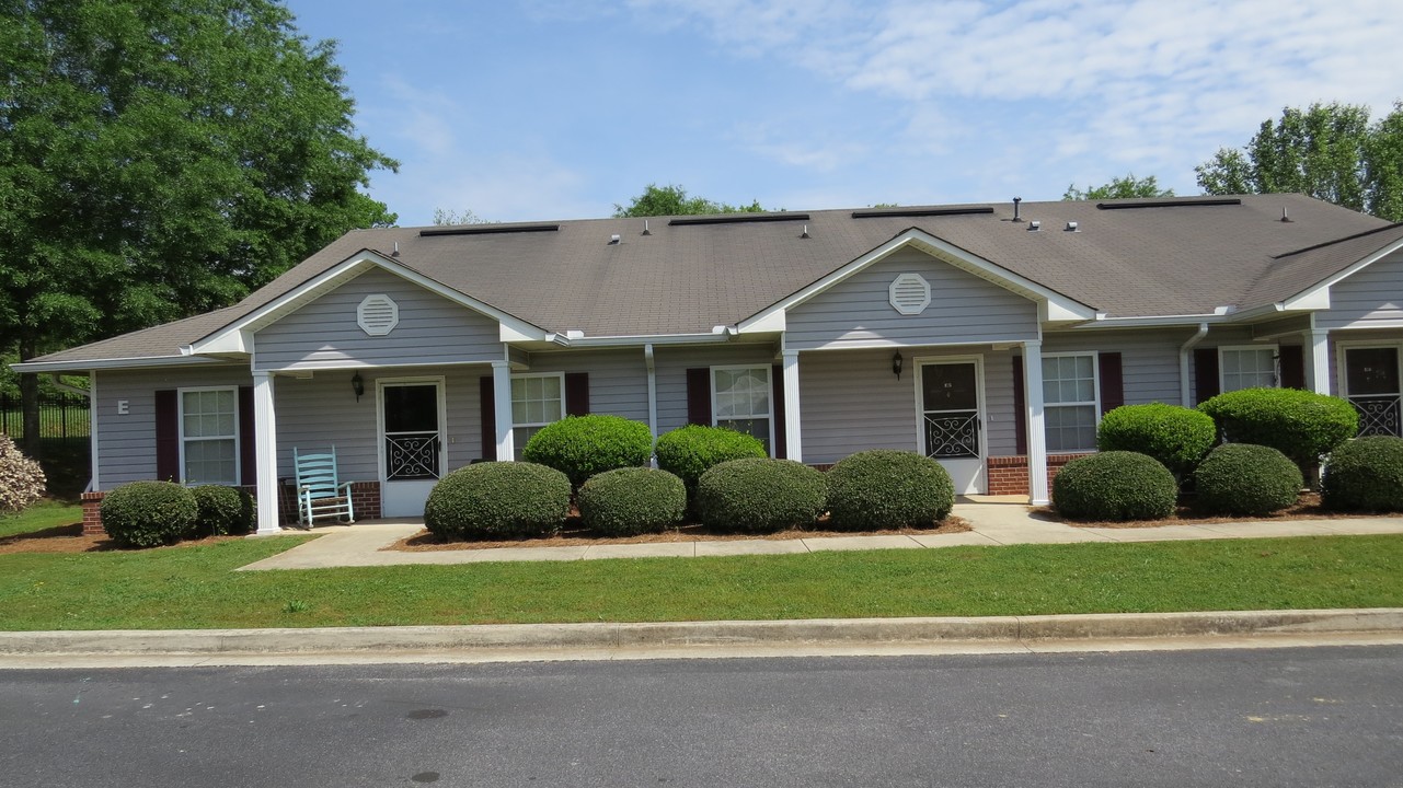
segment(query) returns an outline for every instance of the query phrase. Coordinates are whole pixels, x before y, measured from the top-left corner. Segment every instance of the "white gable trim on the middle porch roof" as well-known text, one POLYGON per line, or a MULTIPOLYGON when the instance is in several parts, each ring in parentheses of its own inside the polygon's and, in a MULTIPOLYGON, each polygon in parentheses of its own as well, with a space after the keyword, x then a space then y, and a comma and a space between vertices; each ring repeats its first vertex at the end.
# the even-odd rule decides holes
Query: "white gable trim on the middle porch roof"
POLYGON ((1062 293, 1044 287, 1037 282, 1020 276, 1000 265, 996 265, 982 257, 969 254, 968 251, 955 247, 947 241, 943 241, 930 233, 923 230, 911 229, 905 233, 897 236, 895 238, 887 241, 885 244, 871 250, 863 257, 849 262, 847 265, 839 268, 838 271, 824 276, 818 282, 798 290, 783 299, 781 301, 766 307, 765 310, 742 320, 737 324, 741 334, 755 334, 760 331, 773 331, 774 325, 784 325, 784 313, 818 293, 828 290, 829 287, 843 282, 849 276, 863 271, 864 268, 885 259, 887 257, 901 251, 904 248, 920 250, 940 262, 953 265, 967 273, 972 273, 981 279, 985 279, 993 285, 1003 287, 1012 293, 1023 296, 1038 304, 1038 320, 1047 321, 1085 321, 1096 320, 1096 310, 1072 300, 1062 293))

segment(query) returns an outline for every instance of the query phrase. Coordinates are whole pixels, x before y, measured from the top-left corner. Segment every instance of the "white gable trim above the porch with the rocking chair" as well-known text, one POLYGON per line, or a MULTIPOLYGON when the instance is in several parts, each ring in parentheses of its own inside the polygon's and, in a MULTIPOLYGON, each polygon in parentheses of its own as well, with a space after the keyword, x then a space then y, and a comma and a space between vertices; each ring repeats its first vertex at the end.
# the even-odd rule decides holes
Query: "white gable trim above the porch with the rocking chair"
POLYGON ((261 328, 272 325, 278 320, 297 311, 303 306, 320 299, 321 296, 335 290, 337 287, 345 285, 347 282, 355 279, 356 276, 370 271, 372 268, 382 268, 429 290, 436 293, 459 306, 467 307, 476 313, 484 314, 498 322, 501 327, 502 341, 543 341, 546 338, 546 331, 519 317, 511 315, 501 311, 497 307, 488 306, 471 296, 460 293, 446 285, 442 285, 422 273, 405 268, 404 265, 376 254, 370 250, 363 250, 354 257, 323 271, 317 276, 303 282, 297 287, 278 296, 272 301, 264 304, 262 307, 246 314, 237 321, 220 328, 219 331, 209 334, 201 339, 191 342, 188 346, 181 348, 181 353, 185 355, 206 355, 206 353, 247 353, 253 348, 253 334, 261 328))

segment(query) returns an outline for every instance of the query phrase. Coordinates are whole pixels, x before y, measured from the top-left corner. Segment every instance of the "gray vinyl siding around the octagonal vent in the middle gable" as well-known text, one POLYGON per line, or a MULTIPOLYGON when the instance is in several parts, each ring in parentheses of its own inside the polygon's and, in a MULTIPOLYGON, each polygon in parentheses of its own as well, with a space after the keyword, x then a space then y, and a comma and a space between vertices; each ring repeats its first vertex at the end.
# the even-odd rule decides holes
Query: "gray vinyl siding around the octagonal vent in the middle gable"
POLYGON ((916 250, 895 252, 786 314, 791 349, 1037 338, 1037 304, 916 250), (890 303, 892 280, 908 272, 930 283, 930 306, 918 315, 901 314, 890 303))

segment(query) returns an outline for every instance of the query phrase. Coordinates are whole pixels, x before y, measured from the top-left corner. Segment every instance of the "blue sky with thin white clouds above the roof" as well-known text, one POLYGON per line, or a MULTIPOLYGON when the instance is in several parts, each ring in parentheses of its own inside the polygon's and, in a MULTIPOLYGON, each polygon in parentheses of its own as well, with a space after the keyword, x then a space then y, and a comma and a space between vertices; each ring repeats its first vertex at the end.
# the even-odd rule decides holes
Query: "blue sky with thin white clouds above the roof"
POLYGON ((428 224, 1058 199, 1312 101, 1403 98, 1396 0, 288 0, 340 42, 370 193, 428 224))

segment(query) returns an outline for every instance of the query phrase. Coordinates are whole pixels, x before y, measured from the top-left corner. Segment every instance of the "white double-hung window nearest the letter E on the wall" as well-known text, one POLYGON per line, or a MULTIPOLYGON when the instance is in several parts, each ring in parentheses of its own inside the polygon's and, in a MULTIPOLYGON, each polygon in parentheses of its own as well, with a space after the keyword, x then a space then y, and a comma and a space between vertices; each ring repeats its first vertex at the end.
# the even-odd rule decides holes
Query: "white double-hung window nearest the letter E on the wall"
POLYGON ((180 391, 181 470, 185 484, 239 484, 239 390, 180 391))

